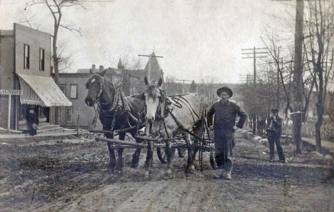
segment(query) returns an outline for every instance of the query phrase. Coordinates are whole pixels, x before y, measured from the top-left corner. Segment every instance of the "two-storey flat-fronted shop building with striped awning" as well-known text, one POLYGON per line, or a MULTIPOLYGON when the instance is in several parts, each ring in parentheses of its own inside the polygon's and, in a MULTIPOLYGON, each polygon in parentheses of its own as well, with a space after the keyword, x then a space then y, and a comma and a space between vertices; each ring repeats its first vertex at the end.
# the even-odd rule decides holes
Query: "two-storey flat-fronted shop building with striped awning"
MULTIPOLYGON (((54 123, 55 106, 71 106, 51 77, 51 35, 14 24, 0 30, 0 89, 20 90, 21 96, 0 95, 0 126, 26 128, 26 112, 33 106, 40 123, 54 123)), ((41 125, 40 124, 40 125, 41 125)))

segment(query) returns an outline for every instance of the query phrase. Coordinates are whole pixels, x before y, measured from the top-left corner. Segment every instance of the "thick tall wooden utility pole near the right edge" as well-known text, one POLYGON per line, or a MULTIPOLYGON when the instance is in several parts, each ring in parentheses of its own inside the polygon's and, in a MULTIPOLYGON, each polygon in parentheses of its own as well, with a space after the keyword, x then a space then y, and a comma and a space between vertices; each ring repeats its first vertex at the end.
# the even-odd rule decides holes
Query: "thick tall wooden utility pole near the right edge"
POLYGON ((295 153, 301 153, 301 112, 303 111, 303 15, 304 1, 295 7, 295 61, 293 68, 293 141, 295 153), (300 113, 298 113, 298 111, 300 113))

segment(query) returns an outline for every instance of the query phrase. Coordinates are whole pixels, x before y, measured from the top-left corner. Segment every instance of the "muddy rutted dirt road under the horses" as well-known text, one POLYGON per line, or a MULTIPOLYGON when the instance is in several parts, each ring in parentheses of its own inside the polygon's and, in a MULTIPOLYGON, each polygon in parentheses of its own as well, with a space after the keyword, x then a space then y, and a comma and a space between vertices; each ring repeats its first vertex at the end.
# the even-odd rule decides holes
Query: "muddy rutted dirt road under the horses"
POLYGON ((186 158, 173 158, 174 178, 154 153, 151 178, 143 178, 145 152, 122 173, 106 168, 105 143, 93 138, 26 138, 0 141, 0 211, 334 211, 333 166, 310 159, 312 147, 288 164, 270 163, 266 143, 236 133, 233 179, 216 173, 204 153, 203 171, 185 174, 186 158))

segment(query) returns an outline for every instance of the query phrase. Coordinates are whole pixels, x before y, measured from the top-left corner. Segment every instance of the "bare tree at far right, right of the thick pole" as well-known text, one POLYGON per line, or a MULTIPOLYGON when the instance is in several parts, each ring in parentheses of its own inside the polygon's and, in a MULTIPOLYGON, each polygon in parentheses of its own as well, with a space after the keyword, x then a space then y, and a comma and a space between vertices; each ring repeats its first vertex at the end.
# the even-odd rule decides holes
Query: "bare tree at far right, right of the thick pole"
POLYGON ((321 125, 326 102, 328 80, 333 73, 333 1, 308 1, 304 34, 305 59, 314 81, 317 96, 317 121, 315 123, 316 150, 321 151, 321 125))

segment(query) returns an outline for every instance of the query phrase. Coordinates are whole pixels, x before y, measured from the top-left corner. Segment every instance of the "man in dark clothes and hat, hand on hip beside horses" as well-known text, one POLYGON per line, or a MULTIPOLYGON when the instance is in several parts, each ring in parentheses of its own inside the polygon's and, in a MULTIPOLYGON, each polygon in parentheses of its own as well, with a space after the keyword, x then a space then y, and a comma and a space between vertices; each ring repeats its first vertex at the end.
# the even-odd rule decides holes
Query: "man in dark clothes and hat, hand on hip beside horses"
MULTIPOLYGON (((233 134, 238 128, 242 128, 246 121, 247 115, 243 109, 232 101, 228 99, 233 95, 233 92, 228 87, 222 87, 217 90, 217 95, 221 98, 221 101, 216 102, 211 106, 208 111, 208 126, 211 126, 213 121, 213 114, 215 115, 215 120, 213 123, 214 130, 214 141, 216 146, 216 162, 218 168, 220 168, 219 173, 216 178, 223 178, 224 172, 226 171, 226 178, 231 179, 232 172, 232 161, 228 158, 229 147, 231 148, 231 143, 233 143, 233 134), (236 115, 240 116, 237 125, 236 115), (225 169, 225 171, 224 171, 225 169)), ((232 152, 232 149, 230 149, 232 152)))

